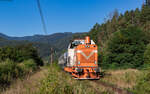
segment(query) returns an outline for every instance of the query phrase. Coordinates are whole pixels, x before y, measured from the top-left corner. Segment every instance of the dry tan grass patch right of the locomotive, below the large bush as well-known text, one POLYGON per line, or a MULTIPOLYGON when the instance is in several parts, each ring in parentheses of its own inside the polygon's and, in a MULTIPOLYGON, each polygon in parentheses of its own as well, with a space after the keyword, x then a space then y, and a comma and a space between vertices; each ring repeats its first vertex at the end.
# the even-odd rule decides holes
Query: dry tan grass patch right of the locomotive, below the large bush
POLYGON ((106 75, 101 80, 121 88, 133 88, 141 73, 136 69, 107 70, 106 75))

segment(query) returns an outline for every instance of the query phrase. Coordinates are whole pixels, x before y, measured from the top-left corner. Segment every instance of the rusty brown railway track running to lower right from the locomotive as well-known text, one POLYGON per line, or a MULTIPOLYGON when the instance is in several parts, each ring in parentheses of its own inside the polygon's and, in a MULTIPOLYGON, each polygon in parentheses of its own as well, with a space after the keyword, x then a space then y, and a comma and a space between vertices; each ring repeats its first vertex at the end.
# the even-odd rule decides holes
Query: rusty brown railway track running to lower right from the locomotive
MULTIPOLYGON (((100 80, 92 80, 93 83, 97 84, 98 86, 104 86, 106 88, 111 89, 112 91, 115 92, 115 94, 133 94, 132 92, 119 88, 115 85, 100 81, 100 80)), ((101 92, 99 92, 97 89, 95 89, 95 91, 97 92, 97 94, 102 94, 101 92)))

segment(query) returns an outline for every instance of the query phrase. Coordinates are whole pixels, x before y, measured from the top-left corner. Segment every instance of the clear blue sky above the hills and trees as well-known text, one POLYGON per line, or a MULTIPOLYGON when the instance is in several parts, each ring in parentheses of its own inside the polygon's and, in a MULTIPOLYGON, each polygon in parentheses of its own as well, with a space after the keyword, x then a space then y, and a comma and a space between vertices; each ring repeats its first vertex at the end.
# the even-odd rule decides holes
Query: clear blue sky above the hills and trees
MULTIPOLYGON (((88 32, 115 9, 141 8, 143 0, 40 0, 48 34, 88 32)), ((0 0, 0 33, 9 36, 45 34, 36 0, 0 0)))

